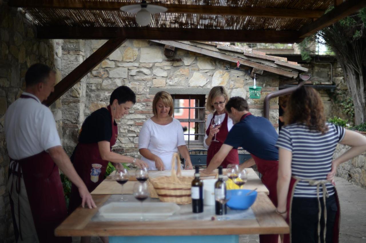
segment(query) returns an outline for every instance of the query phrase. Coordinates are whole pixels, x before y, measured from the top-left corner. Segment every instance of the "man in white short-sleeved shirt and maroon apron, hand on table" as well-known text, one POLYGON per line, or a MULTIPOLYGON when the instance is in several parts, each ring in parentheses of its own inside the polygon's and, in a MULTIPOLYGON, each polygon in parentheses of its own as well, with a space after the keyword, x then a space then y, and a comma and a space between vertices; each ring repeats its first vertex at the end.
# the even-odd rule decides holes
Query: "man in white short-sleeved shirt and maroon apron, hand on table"
POLYGON ((96 205, 61 147, 52 112, 42 105, 54 90, 55 71, 34 64, 25 79, 26 92, 5 114, 11 158, 8 191, 14 230, 19 233, 16 238, 18 242, 71 242, 71 238, 54 235, 67 216, 59 168, 78 186, 82 206, 96 205))

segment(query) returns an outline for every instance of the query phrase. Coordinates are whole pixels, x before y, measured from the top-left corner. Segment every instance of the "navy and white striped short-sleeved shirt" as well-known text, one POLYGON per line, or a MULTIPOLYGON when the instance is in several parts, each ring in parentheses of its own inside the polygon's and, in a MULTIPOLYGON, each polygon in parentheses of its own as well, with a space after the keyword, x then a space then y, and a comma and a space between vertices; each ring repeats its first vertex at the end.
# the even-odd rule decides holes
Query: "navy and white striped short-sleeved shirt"
MULTIPOLYGON (((291 124, 281 129, 276 147, 292 152, 291 173, 302 179, 326 180, 332 169, 333 153, 337 144, 343 139, 345 129, 326 123, 328 132, 321 134, 311 131, 305 124, 291 124)), ((334 186, 326 183, 330 195, 334 194, 334 186)), ((317 197, 317 187, 300 181, 295 188, 294 197, 317 197)), ((322 186, 320 186, 322 197, 322 186)))

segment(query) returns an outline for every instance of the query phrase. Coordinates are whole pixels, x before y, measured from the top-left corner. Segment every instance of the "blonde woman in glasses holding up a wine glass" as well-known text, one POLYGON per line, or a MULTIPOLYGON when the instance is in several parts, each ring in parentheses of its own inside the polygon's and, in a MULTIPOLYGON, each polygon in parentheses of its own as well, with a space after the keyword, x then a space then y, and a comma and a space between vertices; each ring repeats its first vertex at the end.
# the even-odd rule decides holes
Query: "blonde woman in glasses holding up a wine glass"
MULTIPOLYGON (((210 90, 207 97, 206 109, 210 112, 206 120, 206 135, 203 140, 203 146, 208 148, 206 165, 208 166, 213 156, 220 150, 221 146, 225 142, 228 132, 232 128, 232 120, 225 111, 225 104, 229 99, 228 94, 223 86, 215 86, 210 90), (219 118, 221 120, 220 127, 213 127, 212 121, 219 118), (216 141, 214 136, 216 134, 216 141)), ((238 150, 233 148, 221 163, 223 168, 226 168, 228 164, 239 165, 238 150)))

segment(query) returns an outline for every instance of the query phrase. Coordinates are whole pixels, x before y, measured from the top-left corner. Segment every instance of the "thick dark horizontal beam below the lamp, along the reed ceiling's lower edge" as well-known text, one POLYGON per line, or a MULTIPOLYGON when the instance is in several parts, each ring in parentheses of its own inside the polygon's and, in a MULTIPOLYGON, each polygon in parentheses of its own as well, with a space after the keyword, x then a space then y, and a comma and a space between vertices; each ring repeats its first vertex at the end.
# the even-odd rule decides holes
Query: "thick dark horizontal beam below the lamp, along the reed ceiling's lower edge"
POLYGON ((201 28, 38 27, 40 39, 127 39, 191 40, 219 42, 294 43, 297 31, 223 30, 201 28))

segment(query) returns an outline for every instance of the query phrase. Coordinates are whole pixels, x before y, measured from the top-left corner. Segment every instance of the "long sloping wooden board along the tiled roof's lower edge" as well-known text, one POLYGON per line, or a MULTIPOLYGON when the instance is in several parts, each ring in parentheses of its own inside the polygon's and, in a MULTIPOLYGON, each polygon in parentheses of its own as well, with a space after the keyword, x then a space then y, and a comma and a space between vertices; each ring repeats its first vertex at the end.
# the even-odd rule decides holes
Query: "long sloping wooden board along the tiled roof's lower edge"
POLYGON ((289 78, 296 78, 297 77, 297 74, 295 74, 293 72, 288 72, 288 71, 285 71, 285 70, 282 70, 282 69, 279 69, 279 68, 270 67, 270 66, 267 66, 267 65, 263 65, 261 63, 248 61, 246 59, 239 58, 239 57, 232 57, 232 56, 227 55, 227 54, 219 53, 219 52, 216 52, 216 51, 210 51, 210 50, 207 50, 207 49, 187 45, 187 44, 180 43, 180 42, 166 41, 166 40, 151 40, 151 41, 156 42, 156 43, 160 43, 160 44, 163 44, 163 45, 175 46, 175 47, 180 48, 180 49, 193 51, 193 52, 196 52, 196 53, 201 53, 203 55, 207 55, 207 56, 214 57, 214 58, 219 58, 219 59, 229 61, 229 62, 236 63, 236 62, 239 61, 241 65, 255 67, 257 69, 263 69, 267 72, 276 73, 276 74, 279 74, 281 76, 285 76, 285 77, 289 77, 289 78))

